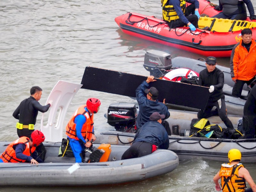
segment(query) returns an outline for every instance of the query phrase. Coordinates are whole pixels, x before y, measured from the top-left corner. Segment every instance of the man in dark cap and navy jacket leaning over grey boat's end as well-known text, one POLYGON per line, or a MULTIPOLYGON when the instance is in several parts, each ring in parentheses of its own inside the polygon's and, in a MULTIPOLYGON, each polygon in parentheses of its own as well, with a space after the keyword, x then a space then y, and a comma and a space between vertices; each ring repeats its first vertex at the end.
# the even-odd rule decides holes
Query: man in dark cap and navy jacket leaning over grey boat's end
POLYGON ((164 117, 158 112, 151 114, 150 121, 145 123, 136 133, 132 146, 124 152, 122 160, 149 155, 157 148, 169 148, 168 134, 161 124, 164 117))

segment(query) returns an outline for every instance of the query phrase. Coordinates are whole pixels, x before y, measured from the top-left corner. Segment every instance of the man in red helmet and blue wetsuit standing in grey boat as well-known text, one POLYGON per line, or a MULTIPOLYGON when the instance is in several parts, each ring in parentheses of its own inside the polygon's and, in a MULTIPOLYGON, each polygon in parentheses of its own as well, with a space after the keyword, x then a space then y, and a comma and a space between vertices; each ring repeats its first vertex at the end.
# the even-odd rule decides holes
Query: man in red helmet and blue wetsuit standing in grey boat
POLYGON ((96 139, 93 128, 93 114, 97 113, 99 109, 99 99, 88 99, 86 105, 82 105, 76 110, 66 126, 66 135, 76 158, 76 163, 82 162, 84 149, 90 148, 92 146, 90 140, 94 141, 96 139))

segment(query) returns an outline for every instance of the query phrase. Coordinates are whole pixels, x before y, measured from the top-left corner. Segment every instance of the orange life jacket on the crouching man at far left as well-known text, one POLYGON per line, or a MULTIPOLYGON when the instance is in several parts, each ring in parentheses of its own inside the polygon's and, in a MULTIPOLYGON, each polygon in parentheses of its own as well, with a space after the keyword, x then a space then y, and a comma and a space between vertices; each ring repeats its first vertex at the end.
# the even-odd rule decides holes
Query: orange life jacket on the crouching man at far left
POLYGON ((11 162, 11 163, 26 162, 26 160, 18 159, 16 157, 16 153, 15 153, 15 150, 13 148, 14 145, 18 145, 20 143, 23 143, 23 144, 26 145, 26 148, 23 151, 23 154, 26 155, 26 156, 31 156, 31 153, 33 153, 35 151, 35 149, 36 149, 35 147, 30 148, 30 143, 29 143, 29 138, 28 137, 20 137, 19 139, 13 141, 12 143, 10 143, 10 145, 8 145, 8 147, 6 148, 5 152, 2 153, 0 158, 5 163, 8 163, 8 162, 11 162))

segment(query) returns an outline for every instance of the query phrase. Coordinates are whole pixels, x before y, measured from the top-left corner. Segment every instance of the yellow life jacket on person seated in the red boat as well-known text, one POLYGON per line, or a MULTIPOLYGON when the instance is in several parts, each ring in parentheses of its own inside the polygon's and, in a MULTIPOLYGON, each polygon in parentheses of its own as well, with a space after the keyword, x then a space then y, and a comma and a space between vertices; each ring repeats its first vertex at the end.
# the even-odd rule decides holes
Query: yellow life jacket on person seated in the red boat
MULTIPOLYGON (((168 2, 169 0, 161 0, 161 3, 163 4, 163 20, 171 22, 172 20, 179 19, 173 5, 168 5, 168 2)), ((180 0, 180 8, 182 12, 185 13, 186 0, 180 0)))

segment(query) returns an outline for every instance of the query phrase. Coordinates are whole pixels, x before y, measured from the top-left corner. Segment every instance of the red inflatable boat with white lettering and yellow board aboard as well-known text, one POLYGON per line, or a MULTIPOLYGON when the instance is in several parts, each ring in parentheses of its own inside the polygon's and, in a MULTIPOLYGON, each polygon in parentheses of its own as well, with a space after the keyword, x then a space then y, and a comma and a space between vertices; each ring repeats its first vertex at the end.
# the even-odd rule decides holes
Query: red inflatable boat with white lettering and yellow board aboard
POLYGON ((128 35, 204 56, 230 57, 234 45, 241 39, 243 28, 251 28, 252 38, 256 39, 256 22, 249 21, 201 17, 196 31, 190 31, 188 27, 169 29, 160 18, 139 13, 128 12, 116 17, 115 21, 128 35), (211 31, 202 29, 206 26, 211 31))

